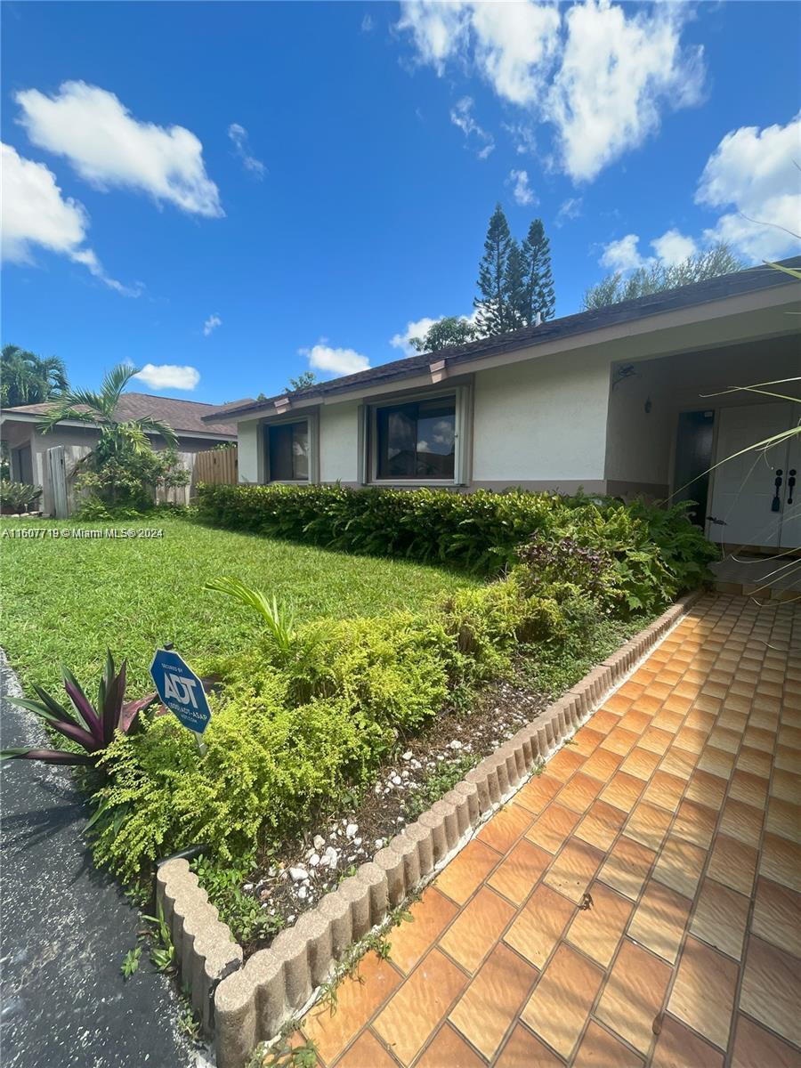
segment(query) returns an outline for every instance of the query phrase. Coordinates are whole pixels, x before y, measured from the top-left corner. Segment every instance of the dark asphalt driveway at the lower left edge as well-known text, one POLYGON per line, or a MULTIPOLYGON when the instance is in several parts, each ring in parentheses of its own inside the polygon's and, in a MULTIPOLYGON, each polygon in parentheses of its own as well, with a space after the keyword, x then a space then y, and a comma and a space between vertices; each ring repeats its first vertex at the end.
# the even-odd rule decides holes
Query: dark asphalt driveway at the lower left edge
MULTIPOLYGON (((2 748, 44 742, 0 650, 2 748)), ((141 927, 92 865, 85 810, 68 769, 10 761, 0 773, 0 1041, 3 1068, 203 1065, 177 1027, 171 983, 142 955, 120 971, 141 927)))

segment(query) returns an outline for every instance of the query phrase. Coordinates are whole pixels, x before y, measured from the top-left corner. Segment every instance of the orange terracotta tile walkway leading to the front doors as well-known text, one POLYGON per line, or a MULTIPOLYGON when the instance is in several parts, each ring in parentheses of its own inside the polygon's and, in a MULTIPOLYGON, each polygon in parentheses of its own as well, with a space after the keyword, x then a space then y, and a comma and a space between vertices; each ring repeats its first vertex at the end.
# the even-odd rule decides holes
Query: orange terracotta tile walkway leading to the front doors
POLYGON ((801 610, 705 598, 310 1012, 320 1063, 799 1068, 800 770, 801 610))

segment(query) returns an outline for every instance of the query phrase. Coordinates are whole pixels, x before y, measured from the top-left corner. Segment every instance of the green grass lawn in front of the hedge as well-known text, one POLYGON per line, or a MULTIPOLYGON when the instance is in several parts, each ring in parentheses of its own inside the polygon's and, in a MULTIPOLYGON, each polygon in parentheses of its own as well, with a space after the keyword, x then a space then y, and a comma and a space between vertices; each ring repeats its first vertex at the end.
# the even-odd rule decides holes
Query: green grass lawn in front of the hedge
POLYGON ((251 534, 235 534, 172 516, 115 523, 3 519, 1 532, 44 531, 0 545, 2 645, 22 685, 57 686, 60 663, 81 681, 99 674, 106 648, 128 658, 129 696, 151 689, 157 645, 167 641, 192 662, 241 648, 257 624, 207 579, 235 575, 288 601, 299 619, 376 615, 415 609, 476 580, 436 567, 350 556, 251 534), (153 539, 77 539, 53 528, 160 528, 153 539))

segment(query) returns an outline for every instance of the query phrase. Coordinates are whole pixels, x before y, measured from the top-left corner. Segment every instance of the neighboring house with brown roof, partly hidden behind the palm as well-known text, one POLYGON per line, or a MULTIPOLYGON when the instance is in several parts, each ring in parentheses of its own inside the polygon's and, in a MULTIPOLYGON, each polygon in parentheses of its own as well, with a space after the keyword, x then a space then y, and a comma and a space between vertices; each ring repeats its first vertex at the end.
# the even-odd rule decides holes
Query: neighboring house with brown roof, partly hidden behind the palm
MULTIPOLYGON (((65 419, 47 434, 42 434, 37 427, 49 408, 49 404, 29 404, 19 408, 5 408, 0 412, 0 437, 9 445, 11 477, 15 482, 42 486, 41 506, 45 515, 53 512, 52 486, 46 457, 48 449, 64 446, 69 480, 76 462, 91 452, 97 440, 97 431, 89 423, 69 419, 65 419)), ((191 472, 197 453, 221 442, 236 441, 236 425, 231 422, 215 422, 216 410, 215 405, 200 404, 198 400, 176 400, 148 393, 123 393, 115 415, 120 420, 152 415, 169 423, 178 439, 178 460, 191 472), (206 422, 204 417, 211 418, 206 422)), ((150 438, 154 449, 163 449, 164 442, 158 435, 150 435, 150 438)), ((191 484, 186 489, 170 490, 169 499, 186 503, 190 489, 191 484)))

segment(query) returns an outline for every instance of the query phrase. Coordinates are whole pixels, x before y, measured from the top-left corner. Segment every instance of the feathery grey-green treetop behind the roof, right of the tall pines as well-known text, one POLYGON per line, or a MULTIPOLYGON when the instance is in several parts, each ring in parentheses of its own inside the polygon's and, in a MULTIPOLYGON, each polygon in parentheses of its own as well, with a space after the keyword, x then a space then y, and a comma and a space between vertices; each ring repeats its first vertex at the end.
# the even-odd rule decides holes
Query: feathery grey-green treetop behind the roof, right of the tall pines
POLYGON ((718 241, 706 252, 688 256, 677 264, 645 264, 628 277, 623 271, 608 274, 586 290, 582 308, 584 311, 608 308, 622 300, 647 297, 651 293, 662 293, 664 289, 675 289, 680 285, 691 285, 721 274, 731 274, 733 271, 742 270, 745 264, 733 252, 729 245, 718 241))

